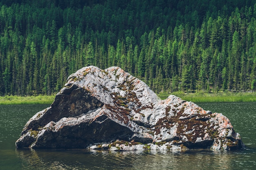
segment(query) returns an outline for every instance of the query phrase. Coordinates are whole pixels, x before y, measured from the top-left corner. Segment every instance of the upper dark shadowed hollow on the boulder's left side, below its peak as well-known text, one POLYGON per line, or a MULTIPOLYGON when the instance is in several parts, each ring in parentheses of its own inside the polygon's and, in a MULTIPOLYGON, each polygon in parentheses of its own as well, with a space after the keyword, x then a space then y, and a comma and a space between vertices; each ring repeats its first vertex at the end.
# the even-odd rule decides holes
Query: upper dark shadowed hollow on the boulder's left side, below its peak
POLYGON ((76 117, 93 109, 102 107, 104 104, 90 93, 77 85, 65 89, 64 94, 57 94, 51 107, 38 120, 32 120, 22 135, 28 130, 38 130, 48 122, 57 122, 63 117, 76 117))

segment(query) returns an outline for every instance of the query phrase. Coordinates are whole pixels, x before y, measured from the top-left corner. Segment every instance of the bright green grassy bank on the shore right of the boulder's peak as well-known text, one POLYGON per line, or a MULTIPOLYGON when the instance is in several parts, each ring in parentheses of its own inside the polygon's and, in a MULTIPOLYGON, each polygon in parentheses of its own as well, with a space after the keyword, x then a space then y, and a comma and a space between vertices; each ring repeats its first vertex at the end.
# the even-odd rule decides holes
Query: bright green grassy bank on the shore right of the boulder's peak
POLYGON ((170 94, 178 96, 183 100, 192 102, 256 102, 256 92, 253 93, 234 93, 234 92, 218 92, 218 93, 184 93, 184 92, 161 92, 158 96, 161 99, 167 98, 170 94))

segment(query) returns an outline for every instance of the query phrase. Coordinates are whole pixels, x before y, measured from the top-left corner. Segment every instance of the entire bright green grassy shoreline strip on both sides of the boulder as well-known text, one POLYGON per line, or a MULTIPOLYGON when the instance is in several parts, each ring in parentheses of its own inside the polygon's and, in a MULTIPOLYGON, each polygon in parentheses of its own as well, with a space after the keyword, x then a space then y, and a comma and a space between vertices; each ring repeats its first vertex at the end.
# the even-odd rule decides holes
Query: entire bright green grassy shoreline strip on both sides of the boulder
MULTIPOLYGON (((184 92, 160 92, 157 94, 162 100, 170 95, 175 95, 186 101, 191 102, 256 102, 256 92, 218 92, 218 93, 184 93, 184 92)), ((0 105, 33 105, 33 104, 52 104, 55 95, 38 96, 0 96, 0 105)))

